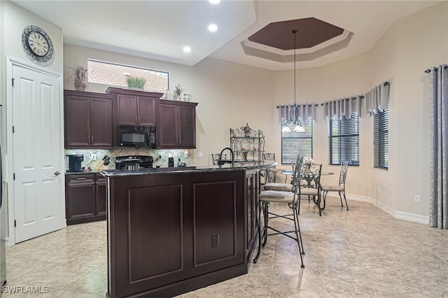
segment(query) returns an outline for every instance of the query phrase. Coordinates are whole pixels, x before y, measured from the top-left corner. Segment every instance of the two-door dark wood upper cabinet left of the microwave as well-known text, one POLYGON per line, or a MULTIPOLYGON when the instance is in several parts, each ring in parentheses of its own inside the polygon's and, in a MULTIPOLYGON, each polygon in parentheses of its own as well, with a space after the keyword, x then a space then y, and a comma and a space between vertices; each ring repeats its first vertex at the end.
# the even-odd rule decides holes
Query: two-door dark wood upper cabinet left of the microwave
POLYGON ((64 90, 65 148, 112 148, 112 97, 64 90))

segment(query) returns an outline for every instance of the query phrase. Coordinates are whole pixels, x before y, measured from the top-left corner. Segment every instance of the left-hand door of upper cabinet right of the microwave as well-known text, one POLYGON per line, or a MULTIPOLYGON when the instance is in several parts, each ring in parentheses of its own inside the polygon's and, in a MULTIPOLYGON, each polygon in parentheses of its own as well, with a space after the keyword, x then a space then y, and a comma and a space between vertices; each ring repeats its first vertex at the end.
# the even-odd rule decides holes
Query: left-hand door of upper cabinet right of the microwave
POLYGON ((170 104, 160 104, 160 121, 157 127, 158 147, 177 147, 178 135, 178 109, 170 104))

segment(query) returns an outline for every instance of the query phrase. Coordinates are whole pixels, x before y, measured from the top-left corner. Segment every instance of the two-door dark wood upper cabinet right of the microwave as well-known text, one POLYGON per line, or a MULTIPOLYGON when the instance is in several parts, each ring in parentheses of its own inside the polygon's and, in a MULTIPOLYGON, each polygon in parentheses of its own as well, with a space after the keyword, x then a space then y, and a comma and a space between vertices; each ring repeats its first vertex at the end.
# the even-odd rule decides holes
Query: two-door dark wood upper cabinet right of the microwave
POLYGON ((160 100, 158 148, 196 148, 197 103, 160 100))

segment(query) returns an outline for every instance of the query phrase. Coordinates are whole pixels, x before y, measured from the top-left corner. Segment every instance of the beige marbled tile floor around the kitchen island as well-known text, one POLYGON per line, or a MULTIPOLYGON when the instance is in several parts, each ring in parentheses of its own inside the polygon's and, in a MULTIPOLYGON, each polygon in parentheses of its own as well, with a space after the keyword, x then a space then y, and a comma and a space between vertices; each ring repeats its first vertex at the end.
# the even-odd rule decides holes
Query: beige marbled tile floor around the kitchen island
MULTIPOLYGON (((448 297, 448 230, 396 220, 367 203, 349 201, 349 208, 329 198, 319 217, 302 201, 304 269, 297 244, 271 236, 248 274, 180 297, 448 297)), ((48 293, 3 297, 104 297, 106 222, 19 243, 6 260, 8 286, 48 293)))

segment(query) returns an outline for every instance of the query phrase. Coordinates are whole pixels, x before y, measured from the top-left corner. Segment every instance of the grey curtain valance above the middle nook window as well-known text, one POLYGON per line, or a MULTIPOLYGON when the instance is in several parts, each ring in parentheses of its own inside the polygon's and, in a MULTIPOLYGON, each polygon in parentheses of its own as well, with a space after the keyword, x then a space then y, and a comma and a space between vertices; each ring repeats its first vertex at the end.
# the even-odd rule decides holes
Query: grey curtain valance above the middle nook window
POLYGON ((346 118, 350 118, 351 114, 356 112, 361 117, 361 101, 363 96, 358 95, 356 97, 346 97, 342 99, 335 99, 332 101, 325 101, 323 103, 323 120, 342 118, 345 115, 346 118))

